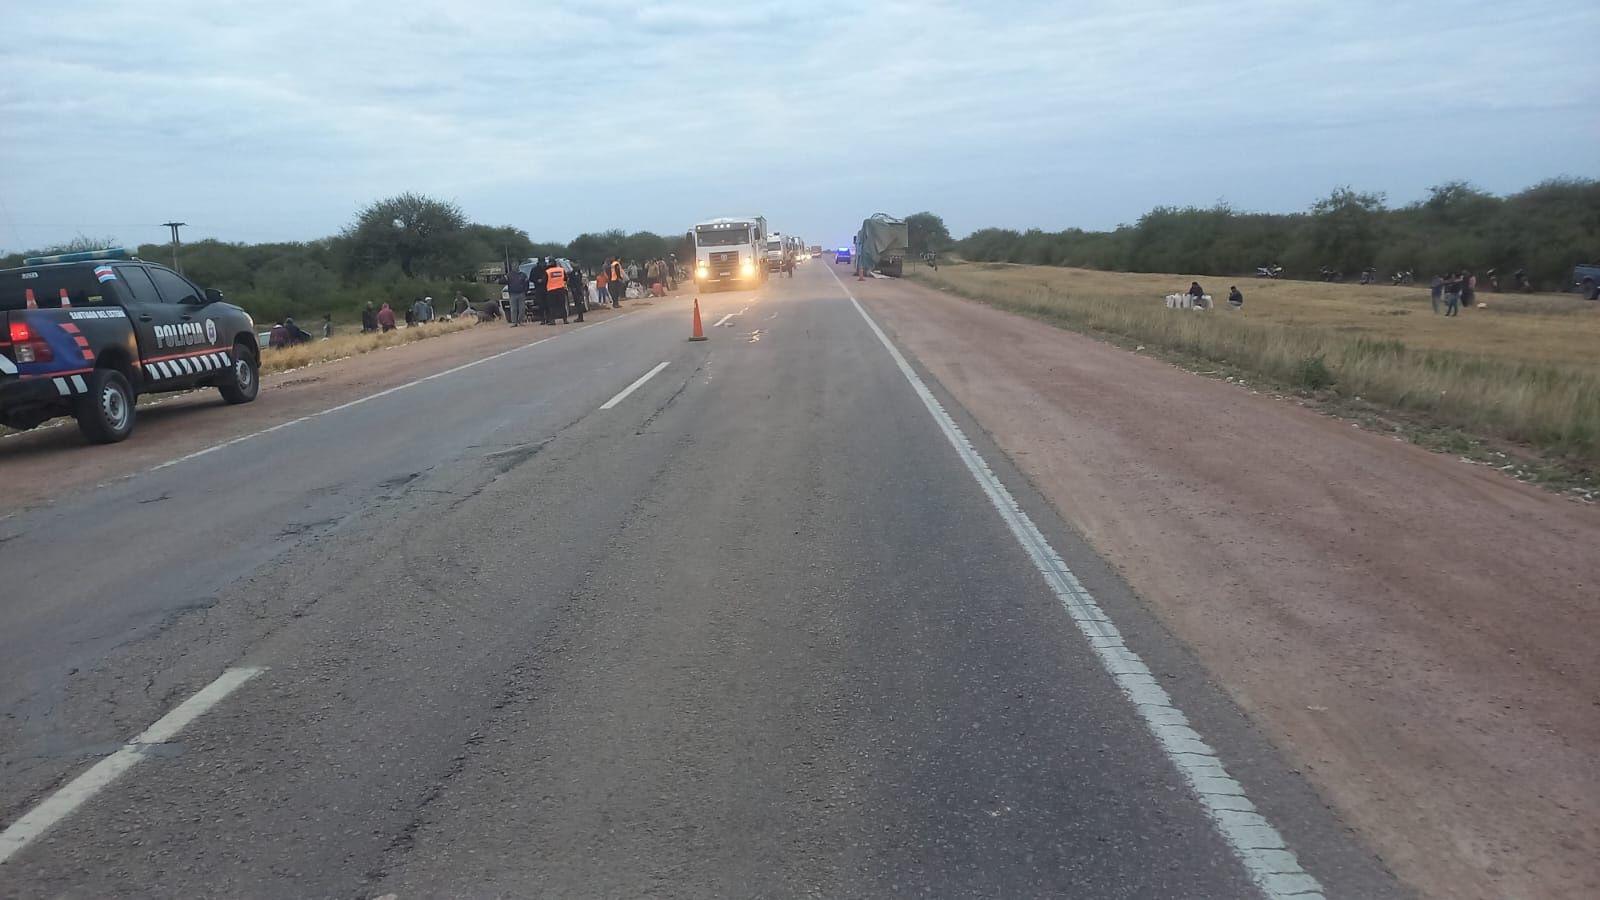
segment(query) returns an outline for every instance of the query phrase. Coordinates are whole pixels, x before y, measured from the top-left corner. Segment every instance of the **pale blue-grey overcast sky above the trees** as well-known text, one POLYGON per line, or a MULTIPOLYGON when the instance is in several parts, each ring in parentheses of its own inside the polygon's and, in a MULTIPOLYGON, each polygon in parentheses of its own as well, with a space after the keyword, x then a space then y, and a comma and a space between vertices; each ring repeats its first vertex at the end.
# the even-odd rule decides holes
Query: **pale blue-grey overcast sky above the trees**
POLYGON ((5 2, 0 248, 762 213, 1112 227, 1600 175, 1600 3, 5 2))

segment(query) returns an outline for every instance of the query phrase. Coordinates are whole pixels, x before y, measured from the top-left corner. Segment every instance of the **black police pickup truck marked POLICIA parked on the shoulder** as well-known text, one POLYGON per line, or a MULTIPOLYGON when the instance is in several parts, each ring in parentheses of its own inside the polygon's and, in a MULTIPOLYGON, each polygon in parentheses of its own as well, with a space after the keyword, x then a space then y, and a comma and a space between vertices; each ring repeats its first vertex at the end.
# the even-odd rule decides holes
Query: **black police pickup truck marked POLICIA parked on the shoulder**
POLYGON ((75 416, 112 444, 133 432, 139 394, 259 391, 250 314, 216 290, 123 250, 34 256, 0 269, 0 424, 75 416))

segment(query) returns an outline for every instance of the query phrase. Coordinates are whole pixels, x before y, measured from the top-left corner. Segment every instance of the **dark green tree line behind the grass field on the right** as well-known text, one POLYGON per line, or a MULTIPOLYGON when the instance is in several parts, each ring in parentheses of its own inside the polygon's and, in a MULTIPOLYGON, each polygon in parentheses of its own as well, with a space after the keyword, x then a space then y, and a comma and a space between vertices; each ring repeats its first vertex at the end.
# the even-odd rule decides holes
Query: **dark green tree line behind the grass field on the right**
MULTIPOLYGON (((1355 277, 1373 267, 1384 279, 1414 271, 1427 280, 1525 269, 1541 290, 1563 290, 1573 266, 1600 263, 1600 181, 1557 178, 1506 197, 1450 181, 1397 208, 1382 194, 1339 187, 1304 213, 1157 207, 1114 231, 986 227, 930 248, 990 263, 1205 275, 1283 266, 1290 277, 1355 277)), ((912 250, 920 251, 915 229, 912 250)))

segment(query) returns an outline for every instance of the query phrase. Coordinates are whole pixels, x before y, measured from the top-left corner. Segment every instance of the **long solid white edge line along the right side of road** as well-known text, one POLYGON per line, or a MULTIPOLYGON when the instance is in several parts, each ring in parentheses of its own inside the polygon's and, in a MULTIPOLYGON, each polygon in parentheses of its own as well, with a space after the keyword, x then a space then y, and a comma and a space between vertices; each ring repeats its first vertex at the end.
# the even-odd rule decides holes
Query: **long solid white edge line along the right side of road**
POLYGON ((984 461, 982 455, 966 439, 966 434, 950 418, 950 413, 946 412, 939 399, 933 396, 933 391, 917 375, 917 370, 906 362, 906 357, 890 341, 888 335, 867 315, 867 311, 856 299, 856 295, 850 293, 850 288, 840 280, 838 274, 834 271, 829 271, 829 274, 834 275, 838 288, 850 298, 850 304, 856 307, 856 312, 861 314, 867 327, 872 328, 872 333, 877 335, 878 343, 890 351, 901 375, 906 376, 928 408, 928 413, 933 415, 944 437, 949 439, 955 453, 966 464, 966 471, 973 474, 978 487, 984 490, 989 501, 1000 512, 1000 519, 1011 528, 1011 535, 1016 536, 1022 549, 1032 557, 1034 565, 1038 567, 1050 589, 1061 601, 1061 605, 1066 607, 1067 615, 1078 626, 1078 631, 1088 639, 1101 665, 1110 674, 1112 681, 1117 682, 1117 687, 1122 689, 1123 697, 1138 709, 1146 727, 1155 735, 1157 743, 1162 745, 1166 757, 1184 780, 1189 781, 1202 809, 1205 809, 1222 839, 1232 847, 1234 855, 1238 857, 1250 879, 1270 898, 1320 898, 1323 895, 1322 884, 1301 868, 1294 850, 1290 850, 1278 830, 1256 812, 1254 804, 1245 796, 1245 788, 1227 773, 1216 751, 1190 727, 1189 719, 1173 705, 1171 695, 1155 681, 1144 660, 1123 644, 1117 626, 1101 612, 1094 597, 1083 588, 1077 575, 1067 569, 1061 554, 1050 546, 1045 533, 1038 530, 1038 525, 1016 503, 1011 492, 1006 490, 1000 477, 994 474, 989 463, 984 461))

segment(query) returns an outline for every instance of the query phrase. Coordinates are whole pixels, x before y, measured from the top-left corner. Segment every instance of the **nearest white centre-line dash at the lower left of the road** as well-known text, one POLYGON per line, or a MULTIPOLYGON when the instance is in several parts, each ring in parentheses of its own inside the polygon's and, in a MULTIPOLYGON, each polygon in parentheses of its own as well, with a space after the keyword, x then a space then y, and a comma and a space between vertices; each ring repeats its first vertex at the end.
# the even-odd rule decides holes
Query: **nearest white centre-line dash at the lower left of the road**
POLYGON ((18 818, 5 831, 0 831, 0 865, 5 865, 6 860, 22 847, 32 844, 45 831, 50 831, 62 818, 72 815, 74 810, 115 781, 123 772, 138 765, 146 756, 146 748, 173 740, 186 725, 264 671, 259 666, 224 671, 216 676, 216 681, 179 703, 171 713, 157 719, 154 725, 139 732, 131 741, 122 745, 115 753, 91 765, 88 772, 67 781, 61 790, 40 801, 22 818, 18 818))

